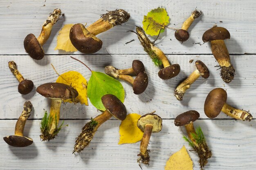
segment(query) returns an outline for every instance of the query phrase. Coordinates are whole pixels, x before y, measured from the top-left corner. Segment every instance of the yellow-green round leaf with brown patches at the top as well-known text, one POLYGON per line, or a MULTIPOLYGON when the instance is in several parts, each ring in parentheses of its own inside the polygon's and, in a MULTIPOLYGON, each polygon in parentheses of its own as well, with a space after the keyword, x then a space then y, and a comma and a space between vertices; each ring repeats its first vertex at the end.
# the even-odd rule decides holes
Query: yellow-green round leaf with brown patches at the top
POLYGON ((159 32, 164 32, 165 26, 169 24, 169 19, 168 13, 164 8, 153 9, 147 16, 144 15, 143 29, 146 34, 151 36, 158 35, 159 32))

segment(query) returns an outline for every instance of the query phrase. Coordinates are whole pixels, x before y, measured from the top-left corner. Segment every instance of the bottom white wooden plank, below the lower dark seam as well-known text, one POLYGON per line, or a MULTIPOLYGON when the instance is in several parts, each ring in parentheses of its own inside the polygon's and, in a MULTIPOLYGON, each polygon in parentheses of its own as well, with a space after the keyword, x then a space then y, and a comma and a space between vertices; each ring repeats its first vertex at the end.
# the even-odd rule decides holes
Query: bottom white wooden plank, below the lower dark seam
MULTIPOLYGON (((120 121, 109 120, 104 123, 94 136, 90 146, 83 152, 72 155, 74 140, 87 121, 67 120, 69 124, 61 130, 56 139, 42 142, 39 139, 38 120, 28 120, 25 135, 34 140, 34 144, 26 148, 8 146, 0 142, 0 169, 84 169, 87 170, 139 170, 137 154, 139 142, 136 144, 118 145, 120 121), (8 160, 8 161, 7 161, 8 160), (31 163, 33 162, 33 163, 31 163)), ((15 120, 0 120, 2 137, 12 135, 15 120)), ((206 170, 254 170, 256 168, 255 128, 256 121, 249 124, 234 120, 198 120, 195 126, 200 126, 204 132, 213 156, 205 167, 206 170)), ((163 170, 168 158, 185 145, 194 170, 199 170, 198 156, 189 151, 191 148, 182 139, 183 132, 174 126, 173 120, 164 120, 163 129, 153 133, 148 146, 150 166, 142 165, 143 170, 163 170)))

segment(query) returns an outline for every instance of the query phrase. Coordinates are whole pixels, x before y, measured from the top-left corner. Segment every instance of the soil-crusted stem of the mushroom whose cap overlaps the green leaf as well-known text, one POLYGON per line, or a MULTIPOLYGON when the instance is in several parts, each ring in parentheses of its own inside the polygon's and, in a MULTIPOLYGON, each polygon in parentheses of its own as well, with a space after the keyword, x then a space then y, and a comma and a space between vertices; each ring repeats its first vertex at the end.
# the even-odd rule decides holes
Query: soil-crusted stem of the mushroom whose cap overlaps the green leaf
POLYGON ((100 115, 92 119, 90 122, 85 124, 85 126, 83 126, 82 128, 82 132, 76 138, 73 153, 74 152, 79 153, 85 147, 87 147, 90 144, 99 126, 101 126, 101 124, 103 124, 105 121, 107 121, 111 117, 112 115, 107 110, 105 110, 103 113, 101 113, 100 115))

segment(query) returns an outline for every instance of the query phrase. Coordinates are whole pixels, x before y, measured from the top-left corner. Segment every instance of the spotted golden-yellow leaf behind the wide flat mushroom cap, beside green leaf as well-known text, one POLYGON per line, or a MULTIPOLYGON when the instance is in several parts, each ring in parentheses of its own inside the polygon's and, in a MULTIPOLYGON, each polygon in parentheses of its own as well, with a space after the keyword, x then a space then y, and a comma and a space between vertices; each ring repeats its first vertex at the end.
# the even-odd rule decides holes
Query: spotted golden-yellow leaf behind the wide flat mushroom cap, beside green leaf
MULTIPOLYGON (((63 73, 56 80, 57 83, 63 83, 67 85, 72 85, 73 88, 78 92, 76 99, 79 100, 81 104, 88 106, 87 99, 87 80, 77 71, 68 71, 63 73)), ((71 103, 71 101, 69 101, 71 103)))

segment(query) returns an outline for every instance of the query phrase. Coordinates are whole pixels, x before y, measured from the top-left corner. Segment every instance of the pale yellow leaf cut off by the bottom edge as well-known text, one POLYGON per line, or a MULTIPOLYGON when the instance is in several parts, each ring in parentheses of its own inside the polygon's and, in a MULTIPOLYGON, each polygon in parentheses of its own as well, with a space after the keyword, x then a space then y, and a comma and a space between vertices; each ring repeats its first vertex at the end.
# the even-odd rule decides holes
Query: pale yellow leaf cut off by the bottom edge
POLYGON ((193 162, 186 151, 185 146, 171 155, 166 162, 164 170, 193 170, 193 162))

